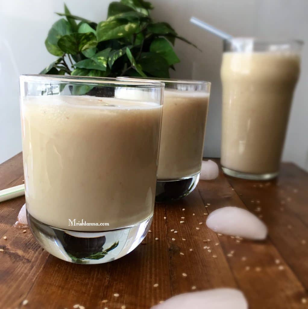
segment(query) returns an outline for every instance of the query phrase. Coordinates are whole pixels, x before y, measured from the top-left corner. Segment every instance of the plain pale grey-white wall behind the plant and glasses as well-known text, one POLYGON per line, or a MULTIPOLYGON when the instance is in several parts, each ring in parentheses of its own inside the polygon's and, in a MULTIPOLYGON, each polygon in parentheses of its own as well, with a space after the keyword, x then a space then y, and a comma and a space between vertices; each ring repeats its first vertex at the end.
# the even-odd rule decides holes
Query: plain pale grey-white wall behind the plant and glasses
MULTIPOLYGON (((66 0, 75 15, 105 19, 110 1, 66 0)), ((54 57, 45 47, 47 32, 63 11, 63 0, 0 0, 0 162, 21 150, 18 75, 38 73, 54 57)), ((220 155, 221 85, 219 69, 222 42, 189 23, 194 15, 235 36, 294 37, 308 42, 306 0, 152 0, 152 16, 168 21, 181 36, 193 41, 202 53, 176 43, 181 63, 173 77, 212 82, 206 128, 205 156, 220 155)), ((308 46, 302 57, 302 75, 294 96, 283 159, 308 170, 308 46)))

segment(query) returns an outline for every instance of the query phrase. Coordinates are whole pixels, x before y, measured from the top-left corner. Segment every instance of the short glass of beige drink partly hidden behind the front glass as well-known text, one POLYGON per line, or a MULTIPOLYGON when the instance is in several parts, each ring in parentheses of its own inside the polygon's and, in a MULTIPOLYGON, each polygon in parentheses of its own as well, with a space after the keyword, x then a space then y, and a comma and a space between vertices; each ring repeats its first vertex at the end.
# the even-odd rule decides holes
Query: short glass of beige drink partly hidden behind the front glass
MULTIPOLYGON (((156 202, 177 200, 192 192, 199 181, 210 83, 178 79, 148 80, 165 84, 156 202)), ((130 90, 122 88, 121 91, 117 96, 125 98, 130 95, 130 90)))

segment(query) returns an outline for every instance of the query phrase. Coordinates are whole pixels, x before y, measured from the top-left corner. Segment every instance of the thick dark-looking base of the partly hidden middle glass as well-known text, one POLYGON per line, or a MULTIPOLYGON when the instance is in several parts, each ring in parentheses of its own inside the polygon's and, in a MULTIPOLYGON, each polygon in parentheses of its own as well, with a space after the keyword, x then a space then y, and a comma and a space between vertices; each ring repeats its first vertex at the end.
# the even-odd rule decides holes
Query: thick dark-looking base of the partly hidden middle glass
POLYGON ((163 203, 187 196, 196 188, 199 177, 200 173, 177 180, 157 180, 155 201, 163 203))

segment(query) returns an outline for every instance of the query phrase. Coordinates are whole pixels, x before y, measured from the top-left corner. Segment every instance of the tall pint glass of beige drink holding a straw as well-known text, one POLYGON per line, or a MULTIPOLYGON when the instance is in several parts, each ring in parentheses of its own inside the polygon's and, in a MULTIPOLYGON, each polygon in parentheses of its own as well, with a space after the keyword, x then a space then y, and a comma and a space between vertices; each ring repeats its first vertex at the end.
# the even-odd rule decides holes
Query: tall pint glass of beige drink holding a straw
POLYGON ((221 165, 229 176, 268 180, 279 171, 302 42, 224 41, 221 165))

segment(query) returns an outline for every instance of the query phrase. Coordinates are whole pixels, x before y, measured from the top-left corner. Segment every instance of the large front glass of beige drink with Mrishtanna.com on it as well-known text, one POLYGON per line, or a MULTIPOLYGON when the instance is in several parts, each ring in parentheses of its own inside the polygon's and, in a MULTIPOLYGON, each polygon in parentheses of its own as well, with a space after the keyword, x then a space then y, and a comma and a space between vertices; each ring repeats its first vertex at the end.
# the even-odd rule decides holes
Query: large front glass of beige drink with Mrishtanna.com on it
POLYGON ((52 255, 105 263, 147 234, 163 92, 159 82, 20 77, 27 220, 52 255), (121 87, 136 95, 115 98, 121 87))

